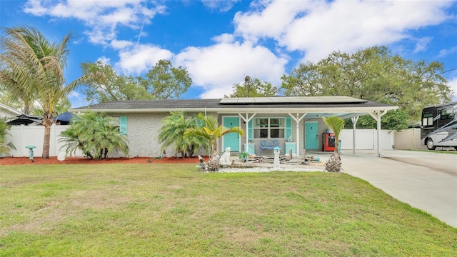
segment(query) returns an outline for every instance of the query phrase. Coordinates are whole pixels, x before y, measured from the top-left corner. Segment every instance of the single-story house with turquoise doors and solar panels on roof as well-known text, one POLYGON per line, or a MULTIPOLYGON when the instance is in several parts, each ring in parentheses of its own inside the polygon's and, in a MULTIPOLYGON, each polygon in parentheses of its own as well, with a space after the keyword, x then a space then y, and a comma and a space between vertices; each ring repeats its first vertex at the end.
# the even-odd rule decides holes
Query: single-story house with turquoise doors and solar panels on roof
MULTIPOLYGON (((328 129, 322 117, 351 118, 356 123, 358 116, 369 114, 378 121, 379 131, 381 116, 386 111, 398 109, 398 106, 348 96, 274 96, 111 101, 69 111, 75 113, 89 109, 119 119, 120 131, 126 133, 129 139, 130 156, 150 157, 161 156, 157 137, 161 120, 169 116, 170 111, 185 111, 189 116, 204 113, 216 116, 219 124, 228 128, 241 126, 244 136, 229 133, 221 138, 219 153, 230 147, 232 152, 259 154, 268 150, 261 146, 277 142, 281 153, 292 151, 301 155, 303 149, 322 150, 323 133, 328 129)), ((172 151, 166 153, 174 155, 172 151)))

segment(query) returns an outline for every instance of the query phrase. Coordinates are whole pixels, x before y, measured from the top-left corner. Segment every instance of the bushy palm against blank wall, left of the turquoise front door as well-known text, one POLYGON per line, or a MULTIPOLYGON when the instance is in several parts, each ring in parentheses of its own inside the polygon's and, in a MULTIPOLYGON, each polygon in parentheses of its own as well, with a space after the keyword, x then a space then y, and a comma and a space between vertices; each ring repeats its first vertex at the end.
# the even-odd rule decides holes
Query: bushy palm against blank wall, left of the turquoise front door
POLYGON ((169 146, 181 153, 181 156, 189 157, 194 155, 194 151, 199 147, 208 147, 209 142, 201 137, 188 136, 184 138, 186 129, 196 128, 198 120, 194 117, 186 117, 184 111, 171 111, 169 116, 162 119, 162 126, 159 132, 159 142, 162 144, 161 151, 169 146))

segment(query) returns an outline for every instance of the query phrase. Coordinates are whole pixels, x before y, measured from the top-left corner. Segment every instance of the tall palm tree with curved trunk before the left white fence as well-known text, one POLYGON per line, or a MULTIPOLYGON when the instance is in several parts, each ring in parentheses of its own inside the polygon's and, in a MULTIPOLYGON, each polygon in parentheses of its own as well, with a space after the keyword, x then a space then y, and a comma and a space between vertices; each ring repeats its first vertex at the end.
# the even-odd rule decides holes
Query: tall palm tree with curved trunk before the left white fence
MULTIPOLYGON (((100 74, 86 74, 65 83, 64 68, 69 55, 71 33, 59 42, 50 43, 30 26, 4 29, 0 39, 0 84, 18 96, 32 97, 44 111, 44 142, 41 158, 49 158, 49 140, 56 104, 80 84, 94 81, 100 74)), ((99 78, 101 79, 101 78, 99 78)))

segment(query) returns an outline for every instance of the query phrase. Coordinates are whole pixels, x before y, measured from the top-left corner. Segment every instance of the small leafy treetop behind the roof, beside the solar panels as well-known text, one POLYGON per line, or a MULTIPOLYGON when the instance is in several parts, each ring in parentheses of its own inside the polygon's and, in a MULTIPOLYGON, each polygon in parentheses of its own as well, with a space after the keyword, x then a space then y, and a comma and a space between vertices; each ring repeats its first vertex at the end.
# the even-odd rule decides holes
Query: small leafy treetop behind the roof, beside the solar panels
POLYGON ((275 96, 278 94, 278 87, 269 82, 262 82, 259 79, 252 79, 250 76, 244 78, 242 84, 234 84, 233 93, 230 97, 263 97, 275 96))

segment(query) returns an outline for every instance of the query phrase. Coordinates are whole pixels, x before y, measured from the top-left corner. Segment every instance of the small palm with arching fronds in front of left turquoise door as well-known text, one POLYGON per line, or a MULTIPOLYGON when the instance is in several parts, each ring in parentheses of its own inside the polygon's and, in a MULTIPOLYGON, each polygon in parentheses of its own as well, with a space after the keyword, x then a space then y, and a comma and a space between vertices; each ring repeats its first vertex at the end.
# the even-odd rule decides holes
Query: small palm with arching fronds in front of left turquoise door
POLYGON ((238 133, 243 136, 244 131, 238 126, 234 126, 231 129, 219 126, 217 119, 214 116, 204 116, 204 114, 200 113, 199 119, 204 122, 204 126, 186 129, 184 138, 188 136, 199 136, 201 138, 206 138, 206 140, 211 142, 211 157, 208 162, 208 169, 209 171, 219 171, 220 164, 219 156, 217 155, 217 141, 228 133, 238 133))

